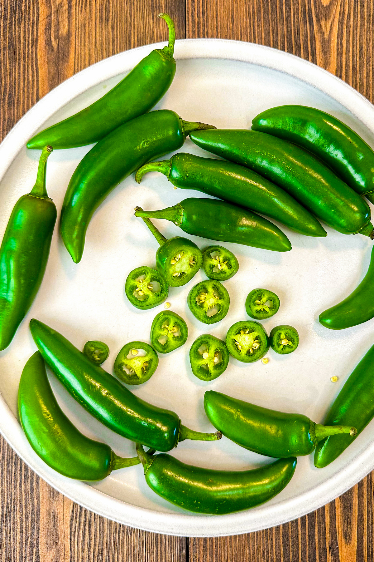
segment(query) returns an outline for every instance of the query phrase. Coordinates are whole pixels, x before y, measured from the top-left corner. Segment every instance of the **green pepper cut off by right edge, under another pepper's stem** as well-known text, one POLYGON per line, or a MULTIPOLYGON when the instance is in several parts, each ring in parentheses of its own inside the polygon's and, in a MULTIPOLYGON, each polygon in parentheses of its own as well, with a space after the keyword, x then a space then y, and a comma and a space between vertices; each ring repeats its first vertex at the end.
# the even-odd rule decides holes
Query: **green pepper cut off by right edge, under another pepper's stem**
POLYGON ((355 435, 333 435, 318 443, 314 455, 314 464, 323 468, 337 459, 339 455, 366 428, 374 417, 374 346, 349 375, 343 388, 336 397, 325 424, 349 424, 354 420, 357 428, 355 435))

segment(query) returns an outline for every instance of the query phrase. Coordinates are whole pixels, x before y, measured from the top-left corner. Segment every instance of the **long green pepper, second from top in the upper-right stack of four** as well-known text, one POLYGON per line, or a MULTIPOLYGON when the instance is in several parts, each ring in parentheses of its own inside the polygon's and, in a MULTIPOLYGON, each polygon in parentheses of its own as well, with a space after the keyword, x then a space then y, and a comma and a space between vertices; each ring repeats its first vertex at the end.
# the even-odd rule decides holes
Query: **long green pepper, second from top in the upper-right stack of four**
POLYGON ((201 148, 265 176, 338 232, 373 237, 370 207, 362 197, 324 163, 288 140, 243 129, 191 134, 190 138, 201 148))

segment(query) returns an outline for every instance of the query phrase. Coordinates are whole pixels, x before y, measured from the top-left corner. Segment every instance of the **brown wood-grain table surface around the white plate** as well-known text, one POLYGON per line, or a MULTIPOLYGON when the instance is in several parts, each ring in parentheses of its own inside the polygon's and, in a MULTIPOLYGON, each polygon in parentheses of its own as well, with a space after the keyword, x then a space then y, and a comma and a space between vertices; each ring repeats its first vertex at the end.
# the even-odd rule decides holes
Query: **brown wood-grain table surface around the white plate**
MULTIPOLYGON (((373 0, 0 0, 0 140, 49 90, 86 66, 165 40, 219 37, 288 51, 373 102, 373 0)), ((374 561, 373 473, 301 519, 223 538, 113 523, 56 492, 0 439, 0 561, 374 561)))

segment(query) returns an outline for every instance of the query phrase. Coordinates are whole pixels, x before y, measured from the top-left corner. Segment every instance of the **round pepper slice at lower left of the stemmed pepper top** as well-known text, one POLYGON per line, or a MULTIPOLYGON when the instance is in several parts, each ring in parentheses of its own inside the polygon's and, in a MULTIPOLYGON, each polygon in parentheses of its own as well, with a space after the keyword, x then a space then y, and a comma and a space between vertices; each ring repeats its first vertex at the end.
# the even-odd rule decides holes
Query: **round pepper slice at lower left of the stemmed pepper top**
POLYGON ((169 294, 169 287, 159 271, 143 265, 127 275, 124 292, 133 306, 147 310, 164 302, 169 294))

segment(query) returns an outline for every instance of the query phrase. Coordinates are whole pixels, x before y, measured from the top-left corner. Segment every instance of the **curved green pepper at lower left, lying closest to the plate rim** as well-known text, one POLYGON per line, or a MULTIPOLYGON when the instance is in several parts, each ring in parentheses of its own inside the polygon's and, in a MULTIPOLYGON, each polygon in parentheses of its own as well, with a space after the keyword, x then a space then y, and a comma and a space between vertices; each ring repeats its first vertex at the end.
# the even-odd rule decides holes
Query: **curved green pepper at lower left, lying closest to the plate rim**
POLYGON ((57 404, 39 351, 22 371, 18 411, 31 447, 48 466, 64 476, 98 481, 112 470, 139 462, 138 457, 122 459, 105 443, 89 439, 77 430, 57 404))

